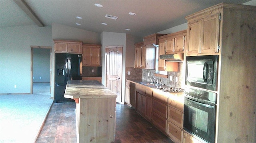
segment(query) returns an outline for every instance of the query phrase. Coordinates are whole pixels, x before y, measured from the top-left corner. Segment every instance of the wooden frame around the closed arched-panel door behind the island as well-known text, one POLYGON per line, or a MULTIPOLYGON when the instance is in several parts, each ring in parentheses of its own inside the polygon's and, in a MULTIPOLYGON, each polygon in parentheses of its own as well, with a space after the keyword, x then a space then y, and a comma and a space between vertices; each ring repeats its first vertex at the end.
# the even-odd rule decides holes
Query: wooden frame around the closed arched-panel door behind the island
MULTIPOLYGON (((122 101, 122 100, 124 100, 122 97, 123 97, 123 95, 122 95, 122 82, 123 82, 123 45, 118 45, 118 46, 105 46, 105 55, 107 55, 107 48, 121 48, 121 50, 122 50, 122 72, 121 72, 121 91, 120 91, 120 99, 121 99, 121 102, 120 103, 123 103, 124 101, 122 101)), ((105 57, 105 71, 107 71, 107 56, 105 57)), ((105 73, 105 77, 106 77, 106 80, 105 80, 105 84, 106 84, 106 86, 107 86, 107 73, 105 73)))

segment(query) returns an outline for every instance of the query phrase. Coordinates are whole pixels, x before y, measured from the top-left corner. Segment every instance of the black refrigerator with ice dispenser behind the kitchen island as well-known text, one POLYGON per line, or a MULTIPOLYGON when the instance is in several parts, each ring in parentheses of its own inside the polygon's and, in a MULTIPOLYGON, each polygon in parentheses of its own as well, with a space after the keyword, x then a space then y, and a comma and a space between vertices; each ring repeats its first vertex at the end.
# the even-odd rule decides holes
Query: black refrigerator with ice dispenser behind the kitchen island
POLYGON ((82 54, 55 53, 54 102, 74 102, 64 98, 68 80, 82 80, 82 54))

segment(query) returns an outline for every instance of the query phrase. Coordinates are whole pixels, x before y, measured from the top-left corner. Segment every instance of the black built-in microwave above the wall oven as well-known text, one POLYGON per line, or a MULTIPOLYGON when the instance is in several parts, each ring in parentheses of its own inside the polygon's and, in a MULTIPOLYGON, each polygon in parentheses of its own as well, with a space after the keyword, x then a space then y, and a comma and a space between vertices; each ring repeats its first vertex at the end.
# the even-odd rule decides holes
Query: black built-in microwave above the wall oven
POLYGON ((186 57, 186 85, 217 91, 218 55, 186 57))

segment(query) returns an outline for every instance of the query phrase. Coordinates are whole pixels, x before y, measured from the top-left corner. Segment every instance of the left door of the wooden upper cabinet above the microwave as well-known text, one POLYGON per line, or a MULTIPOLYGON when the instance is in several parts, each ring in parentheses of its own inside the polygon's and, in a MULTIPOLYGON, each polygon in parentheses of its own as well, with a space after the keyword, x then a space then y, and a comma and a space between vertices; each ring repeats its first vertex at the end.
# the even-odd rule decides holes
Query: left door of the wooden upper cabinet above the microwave
POLYGON ((200 53, 200 35, 202 35, 202 20, 195 20, 188 22, 188 47, 186 49, 186 55, 200 53))

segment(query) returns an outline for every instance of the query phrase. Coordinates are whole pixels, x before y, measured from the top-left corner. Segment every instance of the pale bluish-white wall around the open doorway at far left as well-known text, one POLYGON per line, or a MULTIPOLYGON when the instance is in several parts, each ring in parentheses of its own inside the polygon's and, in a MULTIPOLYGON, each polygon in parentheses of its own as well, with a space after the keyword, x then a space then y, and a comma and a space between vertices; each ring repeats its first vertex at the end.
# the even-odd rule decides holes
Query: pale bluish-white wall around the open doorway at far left
POLYGON ((30 93, 30 46, 52 46, 52 29, 27 25, 0 30, 0 94, 30 93))

